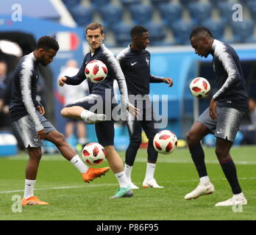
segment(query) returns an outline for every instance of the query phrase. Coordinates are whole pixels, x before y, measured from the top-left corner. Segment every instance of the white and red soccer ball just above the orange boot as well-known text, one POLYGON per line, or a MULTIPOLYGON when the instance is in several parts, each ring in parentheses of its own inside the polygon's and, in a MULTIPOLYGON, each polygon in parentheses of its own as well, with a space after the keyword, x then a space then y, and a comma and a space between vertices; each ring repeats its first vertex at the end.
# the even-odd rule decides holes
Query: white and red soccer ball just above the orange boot
POLYGON ((106 152, 102 145, 97 142, 90 142, 82 149, 82 158, 87 164, 96 165, 103 162, 106 152))

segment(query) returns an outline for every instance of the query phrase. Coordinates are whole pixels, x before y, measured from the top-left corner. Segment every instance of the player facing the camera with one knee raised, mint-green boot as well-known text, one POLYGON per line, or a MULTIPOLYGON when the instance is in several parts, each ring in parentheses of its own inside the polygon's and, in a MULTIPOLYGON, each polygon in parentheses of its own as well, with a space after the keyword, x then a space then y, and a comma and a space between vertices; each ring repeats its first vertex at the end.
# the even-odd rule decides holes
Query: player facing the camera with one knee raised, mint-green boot
POLYGON ((113 109, 116 106, 116 104, 112 102, 114 97, 114 79, 118 82, 121 91, 121 104, 125 106, 125 109, 129 109, 129 112, 134 116, 137 115, 139 110, 129 103, 124 73, 121 71, 120 65, 113 53, 104 46, 104 32, 102 25, 99 23, 89 24, 86 29, 86 40, 88 40, 90 52, 85 55, 85 59, 82 62, 82 66, 77 73, 77 76, 64 76, 63 78, 60 78, 60 86, 63 86, 64 84, 76 85, 83 82, 86 79, 85 66, 88 62, 94 59, 99 59, 107 65, 107 77, 104 81, 99 83, 88 81, 90 95, 65 106, 61 111, 61 115, 68 118, 82 119, 88 124, 95 123, 98 141, 104 146, 106 159, 120 185, 118 192, 111 198, 132 197, 133 192, 129 187, 127 177, 124 173, 124 163, 114 148, 113 118, 115 117, 112 115, 113 109), (94 106, 97 106, 96 109, 99 113, 94 113, 95 110, 90 112, 94 106))

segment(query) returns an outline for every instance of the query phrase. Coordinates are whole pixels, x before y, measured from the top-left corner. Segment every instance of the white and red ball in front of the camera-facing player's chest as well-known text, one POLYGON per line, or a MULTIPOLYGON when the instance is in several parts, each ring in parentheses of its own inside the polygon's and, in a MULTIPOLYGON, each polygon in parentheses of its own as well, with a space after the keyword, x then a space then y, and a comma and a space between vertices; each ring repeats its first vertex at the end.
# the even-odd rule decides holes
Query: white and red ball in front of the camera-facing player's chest
POLYGON ((107 76, 107 66, 101 60, 94 59, 86 65, 85 76, 90 82, 102 82, 107 76))

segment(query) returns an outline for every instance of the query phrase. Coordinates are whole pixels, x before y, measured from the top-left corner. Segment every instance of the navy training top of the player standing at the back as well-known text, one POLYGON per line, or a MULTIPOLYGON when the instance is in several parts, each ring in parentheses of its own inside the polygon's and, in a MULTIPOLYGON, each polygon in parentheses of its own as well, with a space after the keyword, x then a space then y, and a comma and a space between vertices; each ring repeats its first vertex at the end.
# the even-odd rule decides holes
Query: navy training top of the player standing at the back
POLYGON ((116 57, 124 72, 129 95, 148 95, 150 82, 163 82, 160 77, 150 74, 150 53, 135 51, 130 46, 116 57))

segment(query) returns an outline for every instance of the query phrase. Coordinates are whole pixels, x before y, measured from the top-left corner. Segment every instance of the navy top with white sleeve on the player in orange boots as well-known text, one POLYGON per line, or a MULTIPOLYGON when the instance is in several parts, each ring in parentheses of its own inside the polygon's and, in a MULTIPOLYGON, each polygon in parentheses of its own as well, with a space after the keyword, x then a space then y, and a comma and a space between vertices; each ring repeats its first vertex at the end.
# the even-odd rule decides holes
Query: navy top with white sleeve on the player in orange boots
POLYGON ((10 102, 9 115, 13 122, 26 115, 31 115, 37 131, 43 129, 36 107, 40 103, 36 100, 38 83, 38 62, 32 53, 21 58, 15 68, 13 77, 13 93, 10 102))

